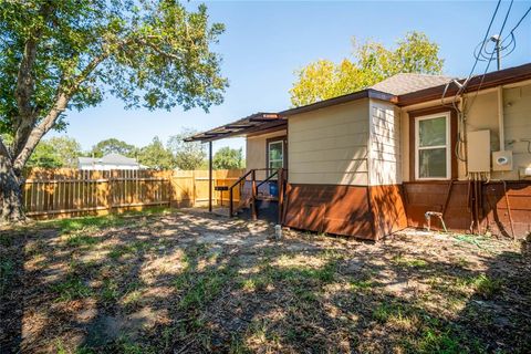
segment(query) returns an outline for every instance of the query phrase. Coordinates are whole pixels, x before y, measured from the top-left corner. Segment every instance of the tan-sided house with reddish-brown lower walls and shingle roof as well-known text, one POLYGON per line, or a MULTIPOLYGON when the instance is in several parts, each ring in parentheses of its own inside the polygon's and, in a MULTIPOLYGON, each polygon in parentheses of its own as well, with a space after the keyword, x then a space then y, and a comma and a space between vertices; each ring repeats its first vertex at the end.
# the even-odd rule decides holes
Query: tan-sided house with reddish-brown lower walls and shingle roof
POLYGON ((428 219, 459 232, 531 231, 531 63, 469 81, 398 74, 187 140, 231 136, 247 138, 253 188, 285 170, 287 227, 371 240, 428 219))

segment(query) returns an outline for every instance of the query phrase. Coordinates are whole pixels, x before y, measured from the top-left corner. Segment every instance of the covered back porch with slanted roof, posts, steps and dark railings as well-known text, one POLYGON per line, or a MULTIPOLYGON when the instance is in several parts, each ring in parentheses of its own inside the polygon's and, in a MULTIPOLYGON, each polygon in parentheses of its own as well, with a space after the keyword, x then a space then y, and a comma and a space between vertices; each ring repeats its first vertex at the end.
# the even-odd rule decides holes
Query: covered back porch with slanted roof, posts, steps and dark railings
POLYGON ((282 223, 287 180, 287 128, 285 117, 277 113, 260 112, 185 139, 185 142, 208 144, 208 210, 210 212, 233 217, 240 209, 249 208, 249 217, 256 220, 259 209, 262 209, 261 214, 269 215, 269 219, 272 219, 269 206, 278 204, 274 219, 278 223, 282 223), (247 138, 247 170, 232 185, 215 186, 212 142, 228 137, 247 138), (263 150, 262 147, 252 144, 257 139, 263 140, 263 150), (214 210, 215 191, 220 195, 228 194, 229 205, 214 210))

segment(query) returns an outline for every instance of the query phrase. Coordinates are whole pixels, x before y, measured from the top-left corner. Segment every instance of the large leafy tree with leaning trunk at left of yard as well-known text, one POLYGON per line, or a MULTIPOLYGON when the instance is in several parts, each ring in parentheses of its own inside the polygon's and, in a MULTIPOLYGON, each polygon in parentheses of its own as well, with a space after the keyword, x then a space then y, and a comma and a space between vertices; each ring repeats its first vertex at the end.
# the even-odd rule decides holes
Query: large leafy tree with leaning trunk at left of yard
POLYGON ((227 81, 210 50, 223 25, 176 0, 0 0, 0 221, 24 218, 22 169, 69 110, 105 93, 126 107, 208 110, 227 81))

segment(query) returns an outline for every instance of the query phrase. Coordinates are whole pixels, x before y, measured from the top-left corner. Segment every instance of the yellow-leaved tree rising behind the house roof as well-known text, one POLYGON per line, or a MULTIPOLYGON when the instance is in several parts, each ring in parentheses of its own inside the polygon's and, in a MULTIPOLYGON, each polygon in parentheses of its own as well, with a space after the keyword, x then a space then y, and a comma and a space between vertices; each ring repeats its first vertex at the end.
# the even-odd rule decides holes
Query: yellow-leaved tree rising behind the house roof
POLYGON ((356 92, 397 73, 442 71, 439 46, 420 32, 407 33, 394 49, 373 41, 353 42, 354 60, 344 59, 337 64, 320 60, 295 72, 296 82, 290 90, 293 106, 356 92))

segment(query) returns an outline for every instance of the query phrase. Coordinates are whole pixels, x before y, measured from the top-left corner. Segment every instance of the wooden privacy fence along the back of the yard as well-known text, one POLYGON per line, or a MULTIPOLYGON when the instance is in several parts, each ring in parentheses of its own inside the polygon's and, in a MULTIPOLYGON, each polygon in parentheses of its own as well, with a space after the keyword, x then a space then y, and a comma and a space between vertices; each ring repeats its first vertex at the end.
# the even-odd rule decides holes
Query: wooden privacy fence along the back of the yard
MULTIPOLYGON (((230 186, 242 173, 214 171, 212 190, 214 186, 230 186)), ((25 178, 23 202, 27 215, 34 218, 208 204, 207 170, 32 169, 25 178)), ((229 197, 212 192, 212 199, 218 205, 229 197)))

